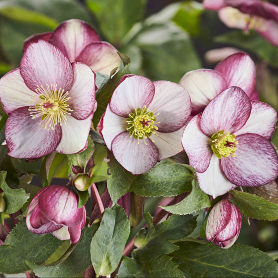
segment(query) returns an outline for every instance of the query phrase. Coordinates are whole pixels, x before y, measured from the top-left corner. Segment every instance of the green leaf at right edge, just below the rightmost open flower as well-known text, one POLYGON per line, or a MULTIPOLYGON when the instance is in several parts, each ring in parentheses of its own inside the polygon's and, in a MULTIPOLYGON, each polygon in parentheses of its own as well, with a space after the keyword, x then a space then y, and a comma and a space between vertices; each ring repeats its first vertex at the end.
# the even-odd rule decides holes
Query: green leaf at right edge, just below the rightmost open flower
POLYGON ((231 202, 238 206, 242 215, 270 221, 278 218, 277 204, 247 192, 231 190, 230 193, 231 202))

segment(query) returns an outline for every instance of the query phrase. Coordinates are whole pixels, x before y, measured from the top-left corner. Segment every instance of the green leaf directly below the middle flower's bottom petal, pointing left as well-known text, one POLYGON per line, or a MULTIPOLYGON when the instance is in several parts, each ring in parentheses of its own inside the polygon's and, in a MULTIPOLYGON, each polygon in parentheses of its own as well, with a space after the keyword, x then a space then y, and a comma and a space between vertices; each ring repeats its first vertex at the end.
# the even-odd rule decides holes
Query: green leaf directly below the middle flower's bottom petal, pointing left
POLYGON ((141 196, 175 196, 190 191, 193 179, 191 171, 180 164, 159 163, 138 176, 129 191, 141 196))

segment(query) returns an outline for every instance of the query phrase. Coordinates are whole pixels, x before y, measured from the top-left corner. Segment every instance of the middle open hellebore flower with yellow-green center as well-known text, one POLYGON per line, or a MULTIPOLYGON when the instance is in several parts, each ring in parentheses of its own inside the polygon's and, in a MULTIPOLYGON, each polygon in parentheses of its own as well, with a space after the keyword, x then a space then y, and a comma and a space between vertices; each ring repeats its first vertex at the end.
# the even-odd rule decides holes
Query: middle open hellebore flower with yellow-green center
POLYGON ((115 159, 132 174, 142 174, 182 152, 180 140, 190 113, 190 97, 181 85, 125 75, 98 130, 115 159))

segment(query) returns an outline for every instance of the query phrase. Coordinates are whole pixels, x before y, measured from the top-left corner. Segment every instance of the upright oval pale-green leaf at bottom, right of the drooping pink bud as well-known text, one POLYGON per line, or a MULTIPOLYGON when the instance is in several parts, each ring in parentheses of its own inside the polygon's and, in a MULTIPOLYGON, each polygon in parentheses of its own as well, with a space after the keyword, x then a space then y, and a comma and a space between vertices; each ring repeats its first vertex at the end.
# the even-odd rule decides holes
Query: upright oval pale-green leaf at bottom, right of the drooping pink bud
POLYGON ((124 209, 117 204, 105 209, 91 242, 91 260, 97 276, 113 272, 120 261, 130 226, 124 209))

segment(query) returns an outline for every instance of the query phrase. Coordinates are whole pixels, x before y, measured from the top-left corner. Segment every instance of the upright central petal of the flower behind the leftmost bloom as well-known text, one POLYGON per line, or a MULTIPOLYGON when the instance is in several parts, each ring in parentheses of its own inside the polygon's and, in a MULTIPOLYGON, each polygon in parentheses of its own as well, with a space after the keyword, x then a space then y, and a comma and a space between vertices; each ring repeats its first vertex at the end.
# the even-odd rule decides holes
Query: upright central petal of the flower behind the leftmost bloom
POLYGON ((97 41, 100 39, 94 29, 78 19, 61 23, 49 40, 69 58, 70 62, 74 62, 88 44, 97 41))

